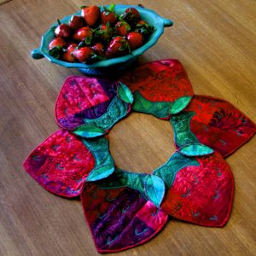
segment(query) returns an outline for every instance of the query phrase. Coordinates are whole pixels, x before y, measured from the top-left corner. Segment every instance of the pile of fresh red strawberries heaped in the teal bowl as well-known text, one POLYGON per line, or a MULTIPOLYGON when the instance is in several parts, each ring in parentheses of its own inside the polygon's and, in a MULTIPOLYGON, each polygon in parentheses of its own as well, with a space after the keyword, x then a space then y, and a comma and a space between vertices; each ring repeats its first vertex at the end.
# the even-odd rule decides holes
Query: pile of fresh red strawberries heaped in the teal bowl
POLYGON ((73 15, 68 25, 58 23, 53 27, 55 38, 49 43, 49 55, 86 64, 131 53, 154 32, 137 9, 125 9, 124 14, 117 15, 114 4, 108 9, 83 6, 81 16, 73 15))

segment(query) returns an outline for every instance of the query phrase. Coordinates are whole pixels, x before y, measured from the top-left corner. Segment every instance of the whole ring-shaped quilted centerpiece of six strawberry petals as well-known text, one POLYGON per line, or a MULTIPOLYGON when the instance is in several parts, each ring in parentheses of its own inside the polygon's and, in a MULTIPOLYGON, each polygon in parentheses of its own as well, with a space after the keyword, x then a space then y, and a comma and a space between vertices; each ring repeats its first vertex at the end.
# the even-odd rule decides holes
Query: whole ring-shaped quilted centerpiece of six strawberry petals
POLYGON ((118 81, 69 77, 55 117, 61 130, 24 167, 49 192, 80 196, 98 252, 142 244, 172 218, 211 227, 228 221, 234 179, 224 158, 255 125, 229 102, 195 95, 179 61, 145 63, 118 81), (150 174, 119 169, 109 153, 108 131, 130 112, 166 119, 174 131, 175 153, 150 174))

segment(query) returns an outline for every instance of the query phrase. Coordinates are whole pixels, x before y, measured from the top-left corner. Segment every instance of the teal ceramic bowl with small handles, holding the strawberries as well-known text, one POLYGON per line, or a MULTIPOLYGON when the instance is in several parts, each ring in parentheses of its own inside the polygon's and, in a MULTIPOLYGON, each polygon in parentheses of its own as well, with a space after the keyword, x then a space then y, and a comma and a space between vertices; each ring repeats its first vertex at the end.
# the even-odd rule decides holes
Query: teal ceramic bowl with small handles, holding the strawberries
MULTIPOLYGON (((142 55, 143 52, 145 52, 147 49, 149 49, 154 44, 156 44, 156 42, 164 32, 164 27, 172 26, 173 24, 172 20, 168 20, 166 18, 161 17, 160 15, 157 15, 153 10, 139 7, 136 5, 117 4, 114 10, 118 15, 120 15, 124 13, 125 9, 131 8, 131 7, 136 8, 140 12, 142 20, 146 20, 149 25, 154 26, 155 28, 154 32, 148 38, 148 41, 145 44, 143 44, 142 47, 133 50, 131 54, 116 57, 113 59, 108 59, 105 61, 97 61, 92 64, 84 64, 79 62, 70 63, 67 61, 57 60, 51 55, 49 55, 49 52, 48 52, 49 42, 55 38, 54 31, 49 29, 42 36, 40 48, 32 50, 32 53, 31 53, 32 58, 41 59, 45 57, 47 60, 55 64, 58 64, 67 68, 79 68, 79 70, 82 73, 85 73, 87 75, 94 75, 94 76, 106 75, 109 73, 118 73, 119 71, 125 70, 126 68, 131 66, 132 62, 137 60, 137 57, 139 55, 142 55)), ((74 15, 81 15, 81 11, 79 11, 74 15)), ((70 20, 71 16, 72 15, 66 16, 64 19, 61 20, 61 23, 68 23, 68 20, 70 20)), ((58 24, 55 23, 53 26, 57 26, 57 25, 58 24)))

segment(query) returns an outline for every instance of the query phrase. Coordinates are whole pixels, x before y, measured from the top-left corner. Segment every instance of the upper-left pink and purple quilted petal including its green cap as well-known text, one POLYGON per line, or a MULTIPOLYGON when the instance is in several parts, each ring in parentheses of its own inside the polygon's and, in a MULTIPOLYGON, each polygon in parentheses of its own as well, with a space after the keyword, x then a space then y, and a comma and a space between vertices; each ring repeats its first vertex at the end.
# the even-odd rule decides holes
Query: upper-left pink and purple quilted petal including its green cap
MULTIPOLYGON (((107 133, 131 110, 131 103, 119 98, 118 88, 119 82, 107 79, 76 76, 67 78, 55 103, 58 125, 71 131, 81 125, 88 125, 89 130, 90 127, 97 127, 107 133)), ((82 137, 97 137, 101 134, 102 131, 100 134, 84 132, 82 137)))

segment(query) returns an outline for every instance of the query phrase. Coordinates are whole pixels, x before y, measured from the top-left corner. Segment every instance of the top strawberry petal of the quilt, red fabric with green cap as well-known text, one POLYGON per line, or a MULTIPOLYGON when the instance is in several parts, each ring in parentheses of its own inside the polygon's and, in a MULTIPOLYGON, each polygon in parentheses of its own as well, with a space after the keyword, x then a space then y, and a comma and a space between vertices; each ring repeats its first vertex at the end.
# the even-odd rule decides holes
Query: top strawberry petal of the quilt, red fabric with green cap
POLYGON ((145 63, 125 73, 120 81, 136 94, 134 111, 151 113, 161 119, 169 117, 172 102, 177 98, 194 95, 187 73, 177 60, 145 63))

